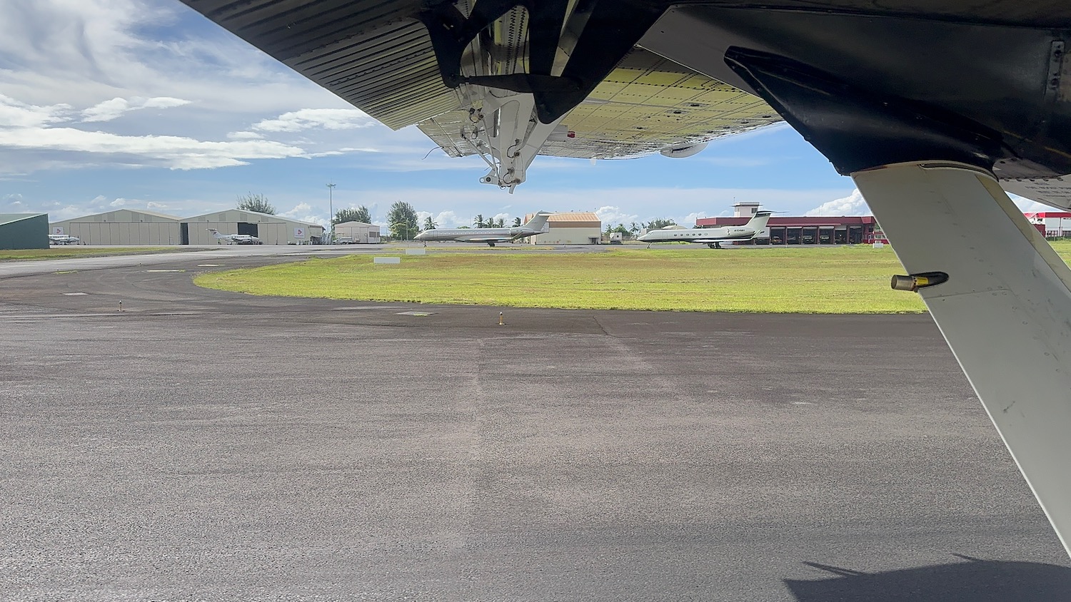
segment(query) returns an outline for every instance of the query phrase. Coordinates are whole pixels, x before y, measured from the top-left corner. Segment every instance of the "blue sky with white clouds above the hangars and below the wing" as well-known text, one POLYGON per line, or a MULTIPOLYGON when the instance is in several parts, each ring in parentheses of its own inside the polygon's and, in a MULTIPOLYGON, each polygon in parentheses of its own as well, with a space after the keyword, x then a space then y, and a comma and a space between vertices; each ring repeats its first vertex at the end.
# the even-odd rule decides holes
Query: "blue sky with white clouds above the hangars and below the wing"
POLYGON ((364 204, 382 222, 404 200, 441 227, 538 210, 691 223, 729 215, 735 201, 869 213, 851 181, 783 124, 684 159, 538 157, 513 195, 477 182, 479 159, 433 149, 414 127, 390 130, 177 0, 0 5, 0 213, 191 216, 254 192, 322 223, 329 182, 335 210, 364 204))

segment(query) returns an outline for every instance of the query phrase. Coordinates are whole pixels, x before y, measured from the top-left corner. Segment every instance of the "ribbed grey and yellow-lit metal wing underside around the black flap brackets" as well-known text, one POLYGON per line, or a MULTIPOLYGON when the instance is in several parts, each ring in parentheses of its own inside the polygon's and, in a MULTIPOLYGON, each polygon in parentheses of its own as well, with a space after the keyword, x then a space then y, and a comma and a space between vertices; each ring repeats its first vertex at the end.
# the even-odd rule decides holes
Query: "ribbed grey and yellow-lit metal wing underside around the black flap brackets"
MULTIPOLYGON (((473 127, 470 109, 482 109, 483 98, 495 89, 468 83, 449 88, 443 82, 432 36, 420 20, 426 14, 424 2, 182 1, 384 125, 418 125, 448 155, 483 154, 497 164, 503 158, 498 155, 508 155, 513 145, 496 153, 485 132, 489 127, 473 127)), ((574 10, 583 3, 570 2, 574 10)), ((462 14, 471 14, 472 4, 456 3, 462 14)), ((529 71, 528 20, 527 11, 514 7, 477 36, 464 56, 471 73, 529 71)), ((669 152, 782 121, 757 96, 640 47, 630 48, 555 124, 556 133, 537 135, 525 160, 530 163, 536 154, 621 158, 669 152)), ((522 132, 511 140, 529 134, 524 132, 528 115, 523 112, 517 119, 522 132)))

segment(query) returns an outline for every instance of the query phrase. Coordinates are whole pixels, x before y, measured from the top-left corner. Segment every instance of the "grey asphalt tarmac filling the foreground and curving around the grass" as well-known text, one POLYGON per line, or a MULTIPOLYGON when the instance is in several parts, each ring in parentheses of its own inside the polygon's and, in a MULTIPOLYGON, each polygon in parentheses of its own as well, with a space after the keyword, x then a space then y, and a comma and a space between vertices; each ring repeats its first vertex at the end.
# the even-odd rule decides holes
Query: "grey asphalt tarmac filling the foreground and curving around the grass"
POLYGON ((0 263, 0 600, 1071 599, 929 317, 191 283, 358 251, 0 263))

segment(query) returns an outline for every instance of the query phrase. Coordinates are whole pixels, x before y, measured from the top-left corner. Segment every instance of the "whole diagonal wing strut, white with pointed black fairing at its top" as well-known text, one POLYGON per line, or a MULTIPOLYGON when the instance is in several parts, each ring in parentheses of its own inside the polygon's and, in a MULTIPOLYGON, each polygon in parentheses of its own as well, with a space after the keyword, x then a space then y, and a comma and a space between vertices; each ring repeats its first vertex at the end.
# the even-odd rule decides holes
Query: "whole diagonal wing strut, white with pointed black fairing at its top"
POLYGON ((1071 269, 997 185, 1004 135, 791 58, 725 61, 855 179, 910 274, 894 288, 922 295, 1071 553, 1071 269))

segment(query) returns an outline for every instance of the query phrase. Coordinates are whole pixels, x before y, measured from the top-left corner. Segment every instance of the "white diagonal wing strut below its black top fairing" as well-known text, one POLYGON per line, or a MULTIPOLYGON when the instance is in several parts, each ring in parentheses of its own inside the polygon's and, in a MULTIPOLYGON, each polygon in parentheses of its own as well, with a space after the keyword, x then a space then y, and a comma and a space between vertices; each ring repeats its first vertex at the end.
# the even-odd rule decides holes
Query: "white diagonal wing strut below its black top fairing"
POLYGON ((851 176, 908 273, 948 274, 919 294, 1071 553, 1071 269, 985 170, 851 176))

